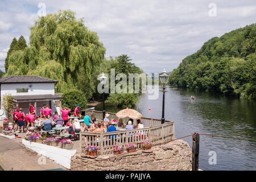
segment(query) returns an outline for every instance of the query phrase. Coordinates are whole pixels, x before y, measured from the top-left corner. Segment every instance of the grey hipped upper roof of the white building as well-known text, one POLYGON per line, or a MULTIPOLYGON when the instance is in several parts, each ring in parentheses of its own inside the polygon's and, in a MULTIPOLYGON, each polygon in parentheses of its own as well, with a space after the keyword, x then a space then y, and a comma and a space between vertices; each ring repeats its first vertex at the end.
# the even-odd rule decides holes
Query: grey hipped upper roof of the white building
POLYGON ((59 82, 57 80, 40 77, 37 75, 11 75, 0 78, 0 84, 10 83, 38 83, 38 82, 59 82))

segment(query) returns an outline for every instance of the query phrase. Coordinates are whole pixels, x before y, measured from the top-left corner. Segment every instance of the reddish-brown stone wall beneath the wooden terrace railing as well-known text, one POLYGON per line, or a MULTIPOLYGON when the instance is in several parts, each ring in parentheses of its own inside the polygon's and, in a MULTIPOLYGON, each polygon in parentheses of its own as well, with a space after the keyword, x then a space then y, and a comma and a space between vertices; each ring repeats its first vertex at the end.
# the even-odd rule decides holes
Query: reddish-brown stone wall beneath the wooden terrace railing
POLYGON ((102 155, 96 158, 75 155, 71 158, 72 170, 89 171, 147 171, 147 170, 189 170, 192 168, 192 150, 187 142, 175 140, 150 150, 138 150, 122 155, 102 155), (83 167, 78 167, 82 166, 83 167))

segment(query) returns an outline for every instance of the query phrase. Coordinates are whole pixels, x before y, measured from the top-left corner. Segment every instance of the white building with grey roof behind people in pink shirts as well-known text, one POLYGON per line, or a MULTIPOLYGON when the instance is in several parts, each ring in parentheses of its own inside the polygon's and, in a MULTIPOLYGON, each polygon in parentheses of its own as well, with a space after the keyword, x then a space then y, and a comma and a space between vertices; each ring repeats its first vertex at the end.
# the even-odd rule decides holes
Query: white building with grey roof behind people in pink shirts
POLYGON ((1 109, 3 96, 11 94, 14 105, 22 107, 25 114, 28 113, 28 104, 36 107, 36 115, 40 114, 40 108, 46 104, 52 109, 52 113, 58 111, 61 105, 60 94, 55 94, 57 80, 40 76, 7 76, 0 78, 1 109))

